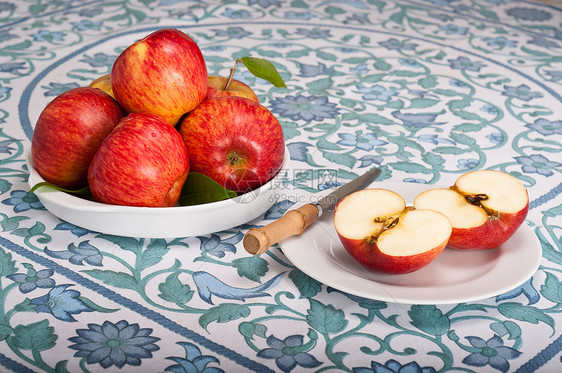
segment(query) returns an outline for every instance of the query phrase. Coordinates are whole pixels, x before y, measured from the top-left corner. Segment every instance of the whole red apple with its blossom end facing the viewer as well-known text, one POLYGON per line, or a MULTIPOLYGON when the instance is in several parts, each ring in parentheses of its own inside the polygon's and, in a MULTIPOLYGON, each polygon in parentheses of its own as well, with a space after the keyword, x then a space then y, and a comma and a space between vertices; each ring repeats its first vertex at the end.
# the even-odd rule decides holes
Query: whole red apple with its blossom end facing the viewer
POLYGON ((269 181, 281 168, 283 130, 262 105, 241 97, 205 100, 181 122, 191 170, 238 193, 269 181))

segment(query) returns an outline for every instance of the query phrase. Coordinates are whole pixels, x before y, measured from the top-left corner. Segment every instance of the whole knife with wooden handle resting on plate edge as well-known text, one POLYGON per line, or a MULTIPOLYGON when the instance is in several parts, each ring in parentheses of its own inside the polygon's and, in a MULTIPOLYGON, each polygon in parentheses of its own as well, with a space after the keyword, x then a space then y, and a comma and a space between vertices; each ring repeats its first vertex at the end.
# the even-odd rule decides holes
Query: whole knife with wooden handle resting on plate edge
POLYGON ((317 203, 307 203, 296 210, 288 211, 281 218, 265 227, 250 229, 244 236, 244 248, 250 254, 263 254, 270 246, 277 242, 290 236, 300 235, 323 212, 333 210, 343 197, 366 188, 380 174, 380 169, 373 168, 347 184, 340 186, 327 196, 321 197, 317 203))

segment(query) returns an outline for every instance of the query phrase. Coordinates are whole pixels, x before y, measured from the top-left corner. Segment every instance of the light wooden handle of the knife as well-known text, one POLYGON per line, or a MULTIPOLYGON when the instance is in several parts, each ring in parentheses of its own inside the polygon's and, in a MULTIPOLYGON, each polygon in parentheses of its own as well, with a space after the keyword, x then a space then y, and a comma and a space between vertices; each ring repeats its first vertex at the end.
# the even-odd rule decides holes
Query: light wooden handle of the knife
POLYGON ((318 208, 306 204, 290 210, 262 228, 252 228, 244 236, 244 248, 250 254, 263 254, 270 246, 290 236, 297 236, 318 219, 318 208))

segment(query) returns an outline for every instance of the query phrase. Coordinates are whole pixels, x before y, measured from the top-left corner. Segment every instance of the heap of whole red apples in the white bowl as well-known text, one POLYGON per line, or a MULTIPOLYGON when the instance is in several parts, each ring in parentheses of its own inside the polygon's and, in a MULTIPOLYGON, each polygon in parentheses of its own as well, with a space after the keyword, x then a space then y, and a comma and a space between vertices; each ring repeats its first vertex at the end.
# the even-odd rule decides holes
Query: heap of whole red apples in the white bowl
POLYGON ((102 203, 177 204, 189 172, 243 193, 281 168, 285 142, 253 90, 208 76, 185 33, 161 29, 133 43, 111 73, 57 96, 41 112, 31 144, 48 183, 89 187, 102 203))

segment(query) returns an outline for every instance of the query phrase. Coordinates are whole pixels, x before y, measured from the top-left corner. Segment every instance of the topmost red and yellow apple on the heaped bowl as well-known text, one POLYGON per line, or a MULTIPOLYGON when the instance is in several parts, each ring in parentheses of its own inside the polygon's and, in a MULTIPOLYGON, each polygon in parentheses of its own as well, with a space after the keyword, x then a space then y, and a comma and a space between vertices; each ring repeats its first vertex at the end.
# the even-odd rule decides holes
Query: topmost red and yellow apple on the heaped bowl
POLYGON ((175 125, 207 94, 207 67, 185 33, 161 29, 125 49, 111 69, 115 98, 128 112, 157 114, 175 125))

